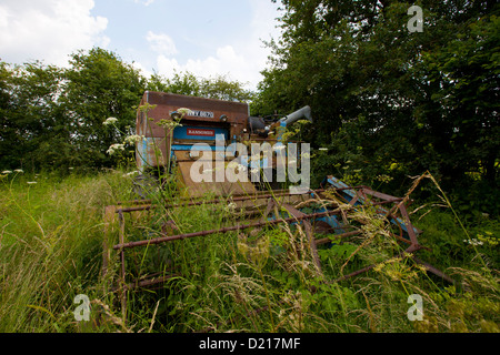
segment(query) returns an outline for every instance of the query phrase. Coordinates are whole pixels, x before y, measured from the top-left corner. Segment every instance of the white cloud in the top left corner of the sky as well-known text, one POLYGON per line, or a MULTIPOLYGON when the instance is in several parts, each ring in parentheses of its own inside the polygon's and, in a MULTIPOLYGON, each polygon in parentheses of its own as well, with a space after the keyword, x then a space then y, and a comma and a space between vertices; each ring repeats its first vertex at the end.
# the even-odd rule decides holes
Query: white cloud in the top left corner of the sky
POLYGON ((93 6, 92 0, 2 0, 1 59, 67 65, 68 55, 79 49, 106 48, 108 20, 91 16, 93 6))

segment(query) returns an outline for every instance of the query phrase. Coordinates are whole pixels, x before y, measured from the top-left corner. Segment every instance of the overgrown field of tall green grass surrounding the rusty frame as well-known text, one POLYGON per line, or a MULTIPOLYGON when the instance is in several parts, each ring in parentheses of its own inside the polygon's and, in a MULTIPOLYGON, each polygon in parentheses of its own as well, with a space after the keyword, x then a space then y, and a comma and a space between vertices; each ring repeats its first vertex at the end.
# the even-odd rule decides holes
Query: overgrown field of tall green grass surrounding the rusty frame
MULTIPOLYGON (((436 190, 440 201, 438 195, 436 190)), ((420 243, 430 248, 419 251, 419 257, 450 275, 454 285, 404 255, 336 281, 400 251, 386 237, 384 221, 367 210, 360 217, 368 221, 371 242, 352 239, 321 247, 321 272, 307 252, 303 232, 294 226, 219 233, 128 252, 129 274, 162 271, 176 276, 158 290, 129 292, 123 322, 119 294, 110 290, 117 281, 116 252, 108 276, 101 277, 103 209, 132 199, 131 175, 122 171, 63 179, 13 172, 2 178, 0 332, 500 329, 499 222, 486 214, 466 221, 442 201, 414 203, 411 219, 423 231, 420 243), (88 322, 74 316, 79 294, 91 302, 88 322), (410 295, 422 300, 421 321, 409 320, 410 295)), ((167 220, 174 221, 174 233, 236 221, 228 204, 186 209, 128 221, 128 241, 156 236, 167 220)))

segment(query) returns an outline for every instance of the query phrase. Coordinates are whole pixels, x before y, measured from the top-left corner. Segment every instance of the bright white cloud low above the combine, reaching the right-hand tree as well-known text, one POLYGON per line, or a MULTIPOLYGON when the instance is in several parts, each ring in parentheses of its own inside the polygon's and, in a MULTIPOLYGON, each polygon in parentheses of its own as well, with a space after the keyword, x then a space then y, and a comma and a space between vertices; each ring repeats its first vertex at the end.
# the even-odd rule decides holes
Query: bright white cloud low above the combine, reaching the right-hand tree
MULTIPOLYGON (((157 70, 160 74, 171 77, 174 71, 189 71, 196 75, 208 78, 227 75, 230 80, 248 83, 249 89, 256 89, 262 77, 260 71, 266 68, 270 50, 261 40, 277 38, 278 17, 277 4, 269 0, 250 0, 252 18, 251 36, 226 43, 216 49, 212 55, 201 59, 188 59, 182 63, 168 54, 167 50, 157 57, 157 70)), ((173 43, 173 41, 172 41, 173 43)), ((159 51, 157 51, 159 52, 159 51)))

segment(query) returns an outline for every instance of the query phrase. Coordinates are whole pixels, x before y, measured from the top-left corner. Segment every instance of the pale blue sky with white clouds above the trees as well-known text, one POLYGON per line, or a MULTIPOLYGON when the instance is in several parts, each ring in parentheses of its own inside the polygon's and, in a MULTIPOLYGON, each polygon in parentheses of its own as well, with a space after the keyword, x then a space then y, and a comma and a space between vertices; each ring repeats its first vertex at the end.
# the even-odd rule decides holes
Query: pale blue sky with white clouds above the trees
POLYGON ((2 0, 0 59, 66 65, 99 45, 141 69, 171 77, 227 75, 254 89, 277 39, 271 0, 2 0))

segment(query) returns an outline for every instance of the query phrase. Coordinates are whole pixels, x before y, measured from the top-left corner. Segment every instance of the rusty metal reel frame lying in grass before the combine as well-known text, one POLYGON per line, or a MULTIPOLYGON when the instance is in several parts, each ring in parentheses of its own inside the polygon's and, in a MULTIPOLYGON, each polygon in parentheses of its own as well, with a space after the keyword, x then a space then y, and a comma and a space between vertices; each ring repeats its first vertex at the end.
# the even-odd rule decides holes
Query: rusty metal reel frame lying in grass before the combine
MULTIPOLYGON (((329 176, 330 178, 330 176, 329 176)), ((322 199, 328 199, 327 194, 337 194, 343 202, 346 203, 344 206, 341 209, 340 206, 337 206, 332 210, 327 210, 324 212, 316 212, 316 213, 303 213, 299 211, 298 209, 293 207, 290 203, 278 201, 277 197, 287 197, 292 196, 291 193, 284 192, 284 191, 277 191, 274 193, 260 193, 256 195, 240 195, 240 196, 232 196, 230 199, 223 199, 223 197, 217 197, 211 201, 197 201, 192 199, 183 199, 180 204, 181 206, 193 206, 193 205, 200 205, 200 204, 214 204, 220 202, 256 202, 258 200, 260 201, 267 201, 267 207, 266 212, 262 215, 262 217, 258 222, 251 222, 251 223, 237 223, 232 226, 226 226, 220 227, 216 230, 207 230, 207 231, 199 231, 199 232, 191 232, 191 233, 181 233, 181 234, 173 234, 169 235, 166 231, 160 232, 159 237, 150 239, 150 240, 143 240, 143 241, 136 241, 136 242, 126 242, 126 235, 124 235, 124 213, 141 213, 144 211, 150 211, 154 209, 156 206, 151 204, 151 201, 129 201, 126 203, 120 203, 114 206, 107 206, 104 211, 106 215, 106 223, 104 223, 104 253, 103 253, 103 273, 108 272, 108 263, 110 258, 111 250, 114 252, 118 252, 119 260, 120 260, 120 268, 119 268, 119 283, 118 286, 111 287, 112 291, 118 292, 121 308, 122 308, 122 317, 126 318, 126 304, 127 304, 127 292, 130 290, 133 290, 136 287, 149 287, 152 285, 161 284, 168 280, 170 280, 173 276, 178 276, 179 274, 171 274, 171 275, 162 275, 162 276, 154 276, 152 278, 148 280, 136 280, 134 282, 127 283, 126 281, 126 265, 124 265, 124 253, 129 248, 133 247, 140 247, 140 246, 148 246, 148 245, 156 245, 156 244, 162 244, 179 240, 186 240, 197 236, 207 236, 214 233, 227 233, 227 232, 233 232, 233 231, 243 231, 248 229, 256 229, 256 227, 263 227, 269 225, 277 225, 280 223, 302 223, 304 233, 308 237, 311 255, 313 258, 313 263, 318 271, 321 271, 321 264, 320 260, 318 257, 317 253, 317 246, 324 243, 330 243, 330 237, 323 237, 323 239, 314 239, 314 233, 312 230, 311 221, 316 221, 320 217, 328 217, 328 216, 343 216, 343 213, 347 211, 346 209, 356 210, 358 205, 363 206, 373 206, 377 209, 377 212, 379 214, 383 214, 388 219, 392 219, 392 222, 398 225, 400 234, 392 233, 391 235, 394 236, 399 242, 408 244, 408 247, 401 252, 396 257, 401 256, 409 256, 412 258, 416 263, 423 265, 429 272, 438 275, 439 277, 442 277, 443 280, 453 283, 453 280, 446 275, 440 270, 436 268, 429 263, 426 263, 421 261, 420 258, 417 258, 413 254, 421 250, 421 248, 428 248, 426 246, 422 246, 418 242, 418 234, 421 232, 418 229, 416 229, 408 215, 407 212, 407 203, 411 202, 409 201, 408 196, 406 197, 394 197, 388 194, 383 194, 377 191, 371 190, 368 186, 360 185, 360 186, 329 186, 318 190, 311 190, 307 194, 303 195, 304 199, 309 199, 310 196, 317 196, 322 199), (346 199, 346 192, 350 192, 352 197, 346 199), (343 193, 343 195, 342 195, 343 193), (386 209, 384 205, 391 205, 390 209, 386 209), (278 215, 278 211, 276 210, 276 206, 284 207, 289 212, 290 217, 282 217, 278 215), (274 219, 269 219, 268 215, 271 212, 271 210, 274 207, 276 215, 274 219), (399 216, 398 216, 399 215, 399 216), (119 243, 112 245, 110 248, 109 243, 109 234, 116 229, 116 217, 118 216, 118 240, 119 243), (404 230, 403 230, 404 229, 404 230), (406 232, 406 233, 403 233, 406 232)), ((176 204, 166 204, 164 207, 170 209, 174 207, 176 204)), ((349 224, 346 224, 341 227, 332 227, 332 230, 340 230, 339 233, 336 234, 336 239, 347 239, 354 235, 359 235, 362 233, 360 230, 354 231, 346 231, 346 229, 352 227, 349 224)), ((384 261, 380 262, 383 263, 384 261)), ((343 275, 340 278, 337 278, 331 282, 338 282, 342 280, 347 280, 350 277, 353 277, 356 275, 359 275, 361 273, 368 272, 379 265, 380 263, 372 264, 364 266, 358 271, 354 271, 348 275, 343 275)))

